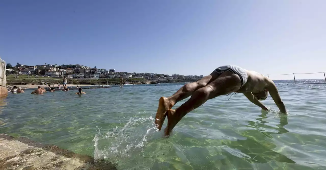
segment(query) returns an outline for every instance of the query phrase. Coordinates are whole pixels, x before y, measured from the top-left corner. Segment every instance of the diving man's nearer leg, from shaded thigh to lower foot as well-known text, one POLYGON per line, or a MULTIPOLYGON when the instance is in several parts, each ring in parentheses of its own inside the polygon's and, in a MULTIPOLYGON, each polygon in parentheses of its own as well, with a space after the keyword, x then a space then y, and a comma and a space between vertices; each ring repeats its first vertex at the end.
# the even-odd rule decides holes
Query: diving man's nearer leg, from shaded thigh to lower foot
POLYGON ((170 135, 174 126, 190 111, 204 104, 208 99, 215 98, 239 90, 241 87, 240 77, 231 72, 223 72, 216 80, 205 87, 196 90, 191 98, 176 110, 168 111, 168 125, 165 135, 170 135))

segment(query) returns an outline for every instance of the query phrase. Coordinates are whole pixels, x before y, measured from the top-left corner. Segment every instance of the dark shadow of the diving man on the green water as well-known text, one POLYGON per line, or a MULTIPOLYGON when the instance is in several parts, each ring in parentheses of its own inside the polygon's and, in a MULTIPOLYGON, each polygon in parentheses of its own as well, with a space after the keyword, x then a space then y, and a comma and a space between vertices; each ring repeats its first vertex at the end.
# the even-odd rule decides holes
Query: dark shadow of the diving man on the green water
POLYGON ((296 163, 293 160, 289 159, 287 156, 282 155, 273 151, 276 148, 276 145, 272 142, 266 140, 265 137, 273 138, 272 134, 284 134, 289 132, 284 128, 288 124, 288 115, 280 115, 280 123, 277 124, 277 127, 271 127, 266 125, 264 119, 268 118, 268 112, 262 111, 262 114, 259 115, 259 118, 256 118, 259 122, 248 121, 247 126, 253 127, 255 129, 244 130, 240 133, 243 137, 246 137, 245 140, 236 140, 236 141, 223 141, 222 144, 233 149, 240 150, 242 153, 248 155, 249 157, 243 158, 251 163, 268 163, 270 161, 277 161, 282 163, 296 163), (265 128, 275 129, 277 132, 263 132, 265 128))

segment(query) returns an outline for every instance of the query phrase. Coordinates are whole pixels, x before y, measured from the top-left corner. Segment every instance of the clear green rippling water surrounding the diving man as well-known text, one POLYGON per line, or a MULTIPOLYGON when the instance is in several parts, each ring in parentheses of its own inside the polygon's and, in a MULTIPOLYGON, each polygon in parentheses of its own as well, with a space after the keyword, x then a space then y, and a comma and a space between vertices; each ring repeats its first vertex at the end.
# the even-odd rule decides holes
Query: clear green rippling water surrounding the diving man
POLYGON ((288 115, 270 96, 268 112, 241 94, 221 96, 188 113, 169 138, 153 125, 158 99, 181 85, 85 89, 82 96, 26 90, 0 100, 0 133, 105 158, 121 170, 326 169, 326 85, 277 86, 288 115))

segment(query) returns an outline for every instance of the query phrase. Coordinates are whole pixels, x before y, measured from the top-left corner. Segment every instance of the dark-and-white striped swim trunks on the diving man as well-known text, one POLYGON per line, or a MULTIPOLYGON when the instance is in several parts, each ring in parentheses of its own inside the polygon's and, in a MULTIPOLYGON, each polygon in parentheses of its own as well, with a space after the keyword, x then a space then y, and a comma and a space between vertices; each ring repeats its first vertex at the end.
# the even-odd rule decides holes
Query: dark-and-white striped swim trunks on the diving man
POLYGON ((248 80, 247 72, 243 68, 236 65, 220 66, 217 69, 215 69, 214 72, 218 73, 218 76, 221 75, 223 72, 233 72, 234 74, 237 74, 241 80, 241 87, 245 83, 247 83, 248 80))

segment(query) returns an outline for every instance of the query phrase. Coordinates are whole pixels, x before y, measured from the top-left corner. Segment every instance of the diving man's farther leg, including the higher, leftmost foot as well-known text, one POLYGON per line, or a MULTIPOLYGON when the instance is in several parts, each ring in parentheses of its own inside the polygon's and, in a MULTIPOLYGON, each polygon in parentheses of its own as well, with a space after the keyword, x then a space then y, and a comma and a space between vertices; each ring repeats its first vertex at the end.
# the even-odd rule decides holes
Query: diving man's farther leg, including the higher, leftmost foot
POLYGON ((155 124, 158 130, 161 130, 164 119, 167 116, 167 111, 171 109, 175 103, 189 97, 194 91, 214 81, 217 77, 218 74, 212 72, 210 75, 203 77, 197 82, 185 84, 176 93, 168 98, 161 97, 158 102, 158 108, 155 116, 155 124))

